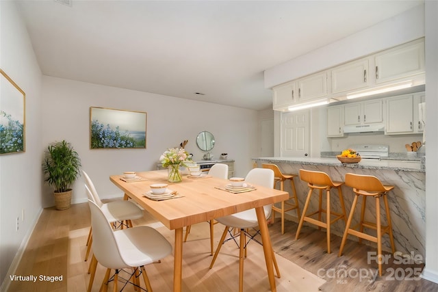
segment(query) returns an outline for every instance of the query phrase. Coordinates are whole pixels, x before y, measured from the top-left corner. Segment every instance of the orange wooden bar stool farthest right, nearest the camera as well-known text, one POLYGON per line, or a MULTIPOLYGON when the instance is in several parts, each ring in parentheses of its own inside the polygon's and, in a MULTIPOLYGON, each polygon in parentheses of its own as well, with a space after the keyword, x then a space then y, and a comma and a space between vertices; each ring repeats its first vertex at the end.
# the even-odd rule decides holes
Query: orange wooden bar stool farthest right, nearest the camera
POLYGON ((361 239, 366 239, 377 243, 377 262, 378 262, 378 275, 382 276, 382 235, 387 233, 389 235, 389 241, 391 242, 392 253, 396 252, 396 247, 394 245, 394 237, 392 235, 392 224, 391 215, 389 212, 389 205, 387 200, 387 194, 389 191, 394 189, 394 185, 383 185, 383 183, 376 178, 376 176, 368 176, 361 174, 346 174, 345 184, 348 187, 352 187, 355 193, 355 199, 353 200, 350 215, 348 215, 348 221, 345 227, 344 236, 342 237, 341 247, 339 248, 339 256, 342 256, 342 250, 346 243, 348 235, 355 235, 359 237, 359 243, 361 239), (353 214, 355 213, 355 208, 357 204, 357 199, 359 196, 363 196, 362 209, 361 209, 361 220, 359 224, 350 228, 351 220, 353 214), (367 197, 372 196, 376 198, 376 223, 366 222, 365 217, 365 204, 367 197), (385 204, 385 212, 387 216, 387 226, 382 226, 381 224, 381 208, 380 208, 380 198, 383 198, 385 204), (355 230, 359 226, 359 231, 355 230), (363 233, 363 228, 372 228, 376 230, 377 236, 368 235, 363 233))

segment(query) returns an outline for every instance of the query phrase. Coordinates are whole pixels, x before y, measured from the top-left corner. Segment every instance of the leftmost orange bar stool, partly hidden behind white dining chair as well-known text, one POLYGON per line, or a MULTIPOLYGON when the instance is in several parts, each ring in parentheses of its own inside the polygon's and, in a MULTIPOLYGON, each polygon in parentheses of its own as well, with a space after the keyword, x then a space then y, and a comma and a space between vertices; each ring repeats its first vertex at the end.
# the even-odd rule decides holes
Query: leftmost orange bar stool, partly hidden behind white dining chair
MULTIPOLYGON (((300 220, 300 207, 298 206, 298 198, 296 196, 296 189, 295 189, 295 183, 294 183, 294 177, 298 176, 296 174, 283 174, 281 173, 279 167, 275 164, 270 163, 263 163, 261 165, 263 168, 269 168, 270 170, 274 170, 274 188, 276 186, 276 183, 280 182, 280 190, 284 191, 284 182, 288 179, 290 180, 292 192, 294 193, 294 196, 289 196, 288 200, 294 199, 294 203, 288 202, 288 200, 285 200, 281 202, 281 208, 275 207, 275 205, 272 205, 272 211, 279 212, 281 214, 281 234, 283 235, 285 233, 285 212, 295 210, 296 214, 298 215, 298 221, 300 220), (287 209, 285 209, 287 208, 287 209)), ((275 220, 275 212, 272 212, 272 222, 275 220)))

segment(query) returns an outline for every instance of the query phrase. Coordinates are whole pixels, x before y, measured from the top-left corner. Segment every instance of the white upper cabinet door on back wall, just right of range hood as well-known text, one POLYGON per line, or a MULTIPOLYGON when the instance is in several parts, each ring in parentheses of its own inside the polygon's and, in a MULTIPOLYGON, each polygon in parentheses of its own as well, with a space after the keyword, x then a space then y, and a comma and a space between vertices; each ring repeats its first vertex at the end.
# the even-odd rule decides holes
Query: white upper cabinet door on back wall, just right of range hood
POLYGON ((411 134, 413 125, 413 95, 385 98, 386 127, 385 134, 411 134))

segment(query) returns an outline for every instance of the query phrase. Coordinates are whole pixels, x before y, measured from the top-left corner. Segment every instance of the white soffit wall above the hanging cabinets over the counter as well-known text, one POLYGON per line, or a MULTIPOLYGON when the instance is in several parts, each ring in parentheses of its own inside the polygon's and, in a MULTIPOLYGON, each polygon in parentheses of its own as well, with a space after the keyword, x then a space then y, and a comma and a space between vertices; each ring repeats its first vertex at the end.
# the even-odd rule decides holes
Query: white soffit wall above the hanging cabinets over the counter
POLYGON ((265 70, 265 88, 272 88, 423 36, 424 5, 417 5, 347 38, 265 70))

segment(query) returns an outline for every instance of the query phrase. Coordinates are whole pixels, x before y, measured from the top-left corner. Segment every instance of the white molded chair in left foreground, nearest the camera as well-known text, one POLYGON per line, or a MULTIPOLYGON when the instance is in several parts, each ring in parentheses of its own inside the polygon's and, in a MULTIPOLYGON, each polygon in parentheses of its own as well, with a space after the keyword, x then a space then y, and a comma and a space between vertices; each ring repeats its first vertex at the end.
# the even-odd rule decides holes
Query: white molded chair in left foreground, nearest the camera
MULTIPOLYGON (((111 269, 115 269, 114 291, 117 291, 118 273, 120 269, 132 268, 129 280, 140 287, 140 271, 146 289, 152 292, 151 283, 144 269, 155 261, 159 261, 172 253, 172 245, 157 230, 149 226, 136 226, 122 230, 112 230, 107 217, 99 206, 88 200, 91 211, 91 226, 94 237, 94 256, 101 265, 107 268, 101 290, 107 290, 111 269)), ((95 273, 95 270, 94 270, 95 273)), ((94 274, 90 278, 88 291, 91 290, 94 274)))

